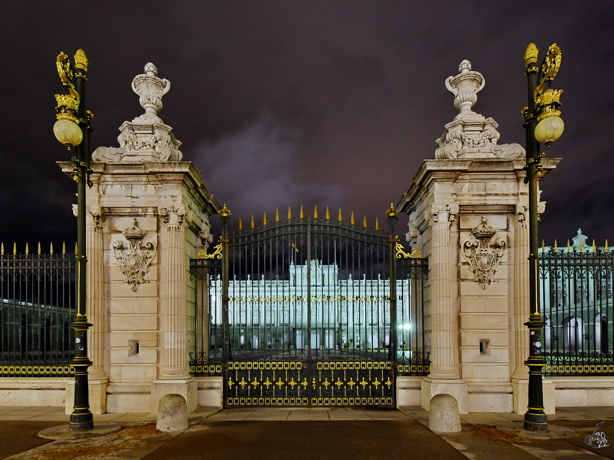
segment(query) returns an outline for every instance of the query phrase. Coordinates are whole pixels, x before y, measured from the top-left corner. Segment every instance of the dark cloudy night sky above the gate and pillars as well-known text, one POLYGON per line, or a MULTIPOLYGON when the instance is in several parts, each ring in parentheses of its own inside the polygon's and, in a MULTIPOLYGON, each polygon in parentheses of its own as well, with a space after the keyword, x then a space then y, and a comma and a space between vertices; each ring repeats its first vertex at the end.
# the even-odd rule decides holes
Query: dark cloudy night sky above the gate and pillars
POLYGON ((75 239, 74 182, 55 164, 70 155, 52 132, 60 51, 90 59, 93 148, 117 147, 142 113, 130 83, 152 61, 171 81, 160 117, 233 217, 329 205, 371 225, 433 158, 462 59, 486 79, 474 110, 524 145, 530 41, 563 55, 565 132, 547 151, 563 159, 542 183, 540 237, 581 227, 614 243, 612 1, 5 0, 0 37, 5 246, 75 239))

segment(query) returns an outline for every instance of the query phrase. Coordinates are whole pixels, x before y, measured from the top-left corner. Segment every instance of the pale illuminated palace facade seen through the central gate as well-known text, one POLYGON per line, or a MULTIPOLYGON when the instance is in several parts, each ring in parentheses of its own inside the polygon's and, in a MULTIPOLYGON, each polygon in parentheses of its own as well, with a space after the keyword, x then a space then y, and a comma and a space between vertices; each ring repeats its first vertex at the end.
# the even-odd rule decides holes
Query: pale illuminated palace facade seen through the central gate
MULTIPOLYGON (((383 350, 390 337, 390 280, 340 279, 336 263, 289 264, 289 279, 230 280, 228 325, 230 347, 246 350, 383 350), (310 270, 310 271, 309 271, 310 270), (308 277, 309 275, 309 277, 308 277), (308 279, 309 278, 309 279, 308 279), (310 305, 307 299, 311 297, 310 305), (308 309, 311 310, 309 318, 308 309), (309 321, 310 320, 310 321, 309 321)), ((213 279, 211 347, 221 344, 222 286, 213 279)), ((409 299, 409 280, 397 282, 397 337, 403 345, 415 319, 403 309, 409 299)))

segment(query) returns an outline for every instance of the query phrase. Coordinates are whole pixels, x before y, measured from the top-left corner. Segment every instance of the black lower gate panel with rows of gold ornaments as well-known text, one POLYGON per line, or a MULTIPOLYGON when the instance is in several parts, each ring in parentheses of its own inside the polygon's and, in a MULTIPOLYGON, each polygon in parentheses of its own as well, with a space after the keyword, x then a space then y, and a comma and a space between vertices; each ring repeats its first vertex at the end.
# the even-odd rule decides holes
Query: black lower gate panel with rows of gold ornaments
POLYGON ((228 363, 225 406, 393 407, 389 361, 228 363))

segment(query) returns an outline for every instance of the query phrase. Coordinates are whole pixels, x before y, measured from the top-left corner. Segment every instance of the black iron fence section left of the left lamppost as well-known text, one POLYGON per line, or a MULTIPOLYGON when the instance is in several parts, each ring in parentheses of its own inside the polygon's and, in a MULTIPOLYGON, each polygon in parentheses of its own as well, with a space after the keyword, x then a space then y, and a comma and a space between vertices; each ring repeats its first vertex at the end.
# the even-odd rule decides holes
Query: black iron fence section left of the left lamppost
POLYGON ((0 377, 69 377, 74 254, 0 254, 0 377))

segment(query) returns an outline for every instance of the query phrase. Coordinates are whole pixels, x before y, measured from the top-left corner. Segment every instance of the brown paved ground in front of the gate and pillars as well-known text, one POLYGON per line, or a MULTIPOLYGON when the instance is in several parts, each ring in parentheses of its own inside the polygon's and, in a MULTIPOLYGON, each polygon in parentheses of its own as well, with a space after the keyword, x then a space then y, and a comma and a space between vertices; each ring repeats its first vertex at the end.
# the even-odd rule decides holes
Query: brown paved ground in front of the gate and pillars
MULTIPOLYGON (((512 413, 461 415, 462 432, 435 434, 429 414, 419 407, 400 411, 368 408, 236 408, 217 412, 199 407, 190 413, 190 428, 161 433, 150 414, 104 414, 96 421, 116 421, 115 434, 74 441, 36 438, 41 429, 65 424, 60 407, 0 407, 0 458, 12 460, 157 460, 223 458, 321 459, 341 453, 352 460, 470 458, 475 460, 614 459, 610 445, 586 445, 599 431, 614 443, 614 407, 558 408, 550 424, 577 435, 564 439, 522 437, 498 429, 523 420, 512 413)), ((520 426, 519 426, 520 427, 520 426)))

